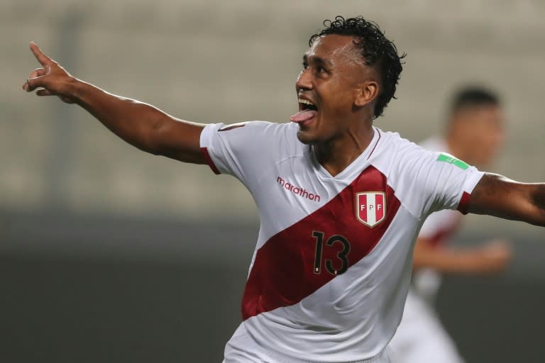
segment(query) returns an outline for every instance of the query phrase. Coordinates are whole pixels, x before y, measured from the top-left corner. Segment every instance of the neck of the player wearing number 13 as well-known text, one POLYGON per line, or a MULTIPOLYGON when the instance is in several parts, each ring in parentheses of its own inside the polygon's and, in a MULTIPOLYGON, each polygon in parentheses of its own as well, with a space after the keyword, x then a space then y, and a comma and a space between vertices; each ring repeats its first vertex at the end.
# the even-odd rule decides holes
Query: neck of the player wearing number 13
POLYGON ((369 123, 365 128, 353 132, 348 130, 342 137, 312 145, 316 160, 335 177, 350 165, 369 146, 375 130, 369 123))

